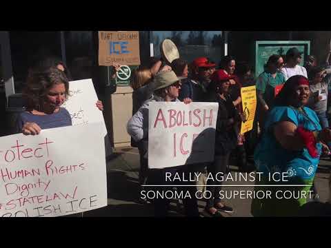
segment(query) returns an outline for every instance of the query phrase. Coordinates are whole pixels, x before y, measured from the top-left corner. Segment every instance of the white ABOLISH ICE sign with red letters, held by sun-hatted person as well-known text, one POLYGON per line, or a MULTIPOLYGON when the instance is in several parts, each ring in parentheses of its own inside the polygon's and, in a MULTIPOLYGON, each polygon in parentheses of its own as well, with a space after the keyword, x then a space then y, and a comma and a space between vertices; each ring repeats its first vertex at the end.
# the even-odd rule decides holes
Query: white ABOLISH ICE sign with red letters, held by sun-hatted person
POLYGON ((218 109, 218 103, 150 103, 148 167, 214 161, 218 109))

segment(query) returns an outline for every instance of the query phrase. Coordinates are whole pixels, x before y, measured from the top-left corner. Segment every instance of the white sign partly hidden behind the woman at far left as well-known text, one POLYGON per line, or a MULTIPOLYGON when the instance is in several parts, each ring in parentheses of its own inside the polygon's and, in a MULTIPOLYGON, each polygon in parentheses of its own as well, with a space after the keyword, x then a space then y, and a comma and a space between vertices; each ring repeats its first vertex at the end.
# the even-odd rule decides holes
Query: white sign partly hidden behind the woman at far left
POLYGON ((107 129, 102 112, 95 103, 98 101, 92 79, 83 79, 69 82, 69 96, 62 107, 68 110, 72 125, 86 125, 88 123, 102 123, 103 136, 107 129))

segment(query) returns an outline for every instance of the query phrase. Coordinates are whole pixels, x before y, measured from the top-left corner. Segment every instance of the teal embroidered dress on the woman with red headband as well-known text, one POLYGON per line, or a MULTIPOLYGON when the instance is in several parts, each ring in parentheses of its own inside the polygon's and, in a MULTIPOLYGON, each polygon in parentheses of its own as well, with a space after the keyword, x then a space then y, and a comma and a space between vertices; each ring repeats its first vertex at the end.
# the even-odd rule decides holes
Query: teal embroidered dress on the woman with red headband
MULTIPOLYGON (((256 181, 255 191, 270 190, 272 198, 254 198, 252 202, 252 214, 254 216, 293 216, 299 211, 299 207, 306 203, 309 195, 306 197, 291 197, 285 199, 283 193, 286 190, 297 194, 301 192, 309 193, 312 181, 319 165, 319 156, 313 158, 308 153, 308 149, 304 148, 301 151, 291 151, 281 147, 280 143, 274 137, 273 126, 281 121, 290 121, 303 127, 305 130, 315 131, 321 130, 319 118, 313 110, 308 107, 303 107, 302 110, 294 107, 274 107, 268 120, 265 123, 265 134, 261 142, 257 145, 254 152, 254 162, 257 167, 257 172, 262 172, 261 181, 256 181), (269 181, 268 175, 275 172, 287 172, 286 180, 275 182, 269 181), (259 187, 258 185, 279 185, 279 187, 259 187), (306 185, 306 186, 285 186, 284 185, 306 185), (276 192, 281 191, 276 197, 276 192)), ((321 144, 316 145, 317 152, 321 154, 321 144)), ((303 194, 304 195, 304 194, 303 194)), ((287 196, 290 196, 288 193, 287 196)))

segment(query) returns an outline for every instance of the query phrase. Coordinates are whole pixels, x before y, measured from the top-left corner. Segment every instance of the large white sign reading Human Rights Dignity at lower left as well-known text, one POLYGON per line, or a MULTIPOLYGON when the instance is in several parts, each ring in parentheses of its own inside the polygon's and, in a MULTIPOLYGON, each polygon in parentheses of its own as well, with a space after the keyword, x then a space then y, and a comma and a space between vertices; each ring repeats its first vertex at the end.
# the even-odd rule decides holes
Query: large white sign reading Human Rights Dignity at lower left
POLYGON ((105 207, 102 128, 92 123, 1 137, 0 216, 65 216, 105 207))

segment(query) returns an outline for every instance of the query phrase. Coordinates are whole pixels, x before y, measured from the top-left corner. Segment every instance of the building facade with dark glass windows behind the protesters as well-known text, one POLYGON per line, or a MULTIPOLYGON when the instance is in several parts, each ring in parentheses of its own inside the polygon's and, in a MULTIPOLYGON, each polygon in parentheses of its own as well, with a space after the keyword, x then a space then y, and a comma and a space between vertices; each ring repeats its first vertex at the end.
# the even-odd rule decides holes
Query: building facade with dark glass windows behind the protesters
MULTIPOLYGON (((254 66, 255 41, 310 41, 310 54, 323 60, 330 50, 331 32, 270 32, 270 31, 139 31, 141 63, 150 56, 160 56, 163 39, 172 39, 180 56, 192 61, 207 56, 219 63, 231 54, 239 61, 254 66)), ((132 89, 116 85, 110 68, 98 65, 97 31, 1 31, 0 32, 0 104, 1 118, 11 107, 12 96, 19 96, 24 87, 28 68, 38 56, 57 56, 68 66, 72 80, 91 78, 105 106, 104 118, 113 145, 130 145, 126 122, 132 115, 132 89)), ((4 127, 2 127, 4 128, 4 127)))

